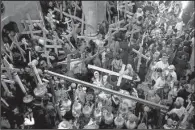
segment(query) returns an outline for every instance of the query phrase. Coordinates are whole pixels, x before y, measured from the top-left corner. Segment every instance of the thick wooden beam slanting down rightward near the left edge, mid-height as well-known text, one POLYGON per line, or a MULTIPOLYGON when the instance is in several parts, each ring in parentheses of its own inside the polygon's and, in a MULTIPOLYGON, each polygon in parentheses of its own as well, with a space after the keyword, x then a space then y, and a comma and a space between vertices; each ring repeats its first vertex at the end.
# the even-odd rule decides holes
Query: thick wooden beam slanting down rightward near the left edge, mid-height
MULTIPOLYGON (((20 88, 23 91, 23 93, 27 94, 26 89, 23 86, 20 77, 18 76, 17 72, 13 69, 13 66, 11 64, 9 64, 9 62, 5 58, 3 59, 3 63, 9 69, 8 73, 11 74, 11 77, 13 76, 14 80, 18 83, 18 85, 20 86, 20 88)), ((9 78, 11 78, 11 77, 9 77, 9 78)))

